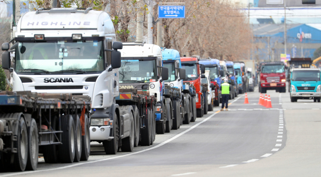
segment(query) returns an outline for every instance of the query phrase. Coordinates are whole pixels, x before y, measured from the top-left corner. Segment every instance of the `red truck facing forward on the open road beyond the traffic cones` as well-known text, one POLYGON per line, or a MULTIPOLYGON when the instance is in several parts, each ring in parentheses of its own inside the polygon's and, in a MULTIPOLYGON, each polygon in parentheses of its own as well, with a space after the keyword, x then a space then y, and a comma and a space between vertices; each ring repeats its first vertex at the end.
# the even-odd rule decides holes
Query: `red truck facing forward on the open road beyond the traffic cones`
POLYGON ((286 92, 286 75, 283 62, 262 62, 257 69, 260 73, 259 92, 266 93, 266 90, 286 92))

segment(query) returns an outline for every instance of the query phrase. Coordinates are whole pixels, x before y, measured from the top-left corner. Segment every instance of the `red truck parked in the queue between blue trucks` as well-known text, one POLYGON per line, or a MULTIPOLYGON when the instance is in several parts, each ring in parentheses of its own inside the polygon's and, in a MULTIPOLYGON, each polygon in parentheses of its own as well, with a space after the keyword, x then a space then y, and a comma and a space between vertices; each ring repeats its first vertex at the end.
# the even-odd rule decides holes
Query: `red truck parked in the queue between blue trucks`
POLYGON ((201 86, 201 77, 205 78, 205 65, 199 64, 199 56, 192 56, 192 57, 181 57, 182 68, 186 71, 186 78, 183 79, 184 83, 190 83, 195 86, 196 89, 196 97, 195 102, 192 103, 192 109, 196 111, 197 117, 203 117, 204 115, 204 96, 202 93, 202 86, 201 86), (201 69, 201 71, 200 71, 201 69), (200 73, 201 72, 201 73, 200 73), (195 106, 196 105, 196 106, 195 106))

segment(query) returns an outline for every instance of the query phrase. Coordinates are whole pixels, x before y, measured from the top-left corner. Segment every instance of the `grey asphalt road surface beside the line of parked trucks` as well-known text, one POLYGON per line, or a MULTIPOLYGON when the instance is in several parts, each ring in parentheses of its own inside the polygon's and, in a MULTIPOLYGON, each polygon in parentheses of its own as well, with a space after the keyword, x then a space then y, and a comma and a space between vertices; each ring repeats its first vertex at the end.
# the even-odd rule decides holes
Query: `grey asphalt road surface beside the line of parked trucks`
POLYGON ((156 135, 152 146, 105 155, 92 143, 89 161, 46 164, 18 176, 320 176, 321 103, 291 103, 289 93, 268 91, 273 108, 258 105, 259 93, 230 100, 229 111, 209 112, 190 125, 156 135))

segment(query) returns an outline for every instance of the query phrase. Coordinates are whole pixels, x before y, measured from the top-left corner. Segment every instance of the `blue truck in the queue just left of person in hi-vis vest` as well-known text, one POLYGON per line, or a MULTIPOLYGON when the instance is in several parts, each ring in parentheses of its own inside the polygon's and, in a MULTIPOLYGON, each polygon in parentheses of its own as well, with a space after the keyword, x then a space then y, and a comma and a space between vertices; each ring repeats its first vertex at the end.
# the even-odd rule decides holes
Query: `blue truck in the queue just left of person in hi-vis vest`
POLYGON ((221 69, 220 61, 218 59, 201 59, 200 64, 205 65, 205 70, 210 71, 209 76, 211 83, 216 86, 214 106, 219 106, 222 102, 222 94, 220 93, 219 88, 222 84, 221 73, 223 72, 221 69))

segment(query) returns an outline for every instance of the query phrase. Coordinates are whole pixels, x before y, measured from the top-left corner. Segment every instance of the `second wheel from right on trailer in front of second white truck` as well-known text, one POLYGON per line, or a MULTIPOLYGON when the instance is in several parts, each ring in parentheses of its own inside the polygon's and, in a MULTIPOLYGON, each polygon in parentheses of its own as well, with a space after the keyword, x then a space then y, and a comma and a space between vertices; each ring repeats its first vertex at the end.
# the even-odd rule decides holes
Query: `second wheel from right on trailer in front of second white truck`
POLYGON ((141 140, 140 140, 140 145, 142 146, 149 146, 150 145, 150 136, 151 136, 151 131, 150 131, 150 111, 148 108, 143 108, 144 114, 146 115, 144 120, 143 120, 143 125, 145 125, 145 128, 141 130, 141 140), (146 111, 147 110, 147 111, 146 111))

